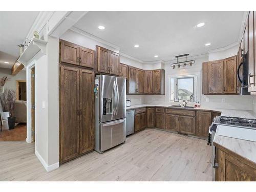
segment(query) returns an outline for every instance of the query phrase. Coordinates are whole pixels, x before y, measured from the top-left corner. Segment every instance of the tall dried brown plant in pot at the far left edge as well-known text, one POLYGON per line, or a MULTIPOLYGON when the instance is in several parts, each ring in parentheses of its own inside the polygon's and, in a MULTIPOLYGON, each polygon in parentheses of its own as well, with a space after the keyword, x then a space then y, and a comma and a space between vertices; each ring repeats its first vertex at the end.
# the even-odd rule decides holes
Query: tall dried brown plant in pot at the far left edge
MULTIPOLYGON (((14 117, 15 100, 16 100, 16 92, 14 90, 7 90, 4 94, 1 94, 1 96, 0 96, 0 103, 2 106, 3 112, 7 112, 5 115, 7 115, 9 113, 9 115, 7 117, 9 130, 14 129, 14 127, 15 127, 15 117, 14 117)), ((3 116, 2 116, 2 118, 3 118, 3 116)), ((5 118, 6 118, 6 116, 5 116, 5 118)))

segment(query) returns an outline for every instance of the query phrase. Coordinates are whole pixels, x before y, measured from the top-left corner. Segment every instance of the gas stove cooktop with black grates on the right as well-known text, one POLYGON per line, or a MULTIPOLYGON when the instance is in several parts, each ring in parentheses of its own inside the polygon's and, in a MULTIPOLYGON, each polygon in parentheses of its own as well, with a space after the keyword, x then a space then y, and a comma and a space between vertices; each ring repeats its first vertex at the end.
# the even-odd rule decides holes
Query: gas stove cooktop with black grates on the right
POLYGON ((214 120, 215 124, 230 125, 256 130, 256 119, 246 119, 241 117, 217 116, 214 120))

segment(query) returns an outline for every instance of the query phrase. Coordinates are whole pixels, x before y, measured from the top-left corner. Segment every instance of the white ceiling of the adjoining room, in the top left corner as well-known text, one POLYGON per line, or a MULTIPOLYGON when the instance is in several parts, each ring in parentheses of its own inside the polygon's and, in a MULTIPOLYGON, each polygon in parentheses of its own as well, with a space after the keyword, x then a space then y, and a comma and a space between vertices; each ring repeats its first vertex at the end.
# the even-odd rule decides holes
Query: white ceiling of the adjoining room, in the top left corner
POLYGON ((0 68, 11 68, 39 11, 0 11, 0 68), (9 62, 9 64, 4 63, 9 62))

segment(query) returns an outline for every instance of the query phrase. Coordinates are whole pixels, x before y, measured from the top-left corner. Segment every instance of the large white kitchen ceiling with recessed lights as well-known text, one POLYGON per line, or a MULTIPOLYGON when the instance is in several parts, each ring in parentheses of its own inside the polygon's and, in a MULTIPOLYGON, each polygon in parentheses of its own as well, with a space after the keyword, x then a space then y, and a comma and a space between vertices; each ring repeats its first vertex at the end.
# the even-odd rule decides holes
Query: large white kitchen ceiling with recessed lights
POLYGON ((238 41, 243 11, 91 11, 74 27, 143 61, 205 54, 238 41), (204 22, 205 26, 195 27, 204 22), (99 30, 98 26, 105 27, 99 30), (211 46, 204 44, 211 42, 211 46), (139 44, 139 48, 134 48, 139 44), (155 58, 154 55, 158 55, 155 58))

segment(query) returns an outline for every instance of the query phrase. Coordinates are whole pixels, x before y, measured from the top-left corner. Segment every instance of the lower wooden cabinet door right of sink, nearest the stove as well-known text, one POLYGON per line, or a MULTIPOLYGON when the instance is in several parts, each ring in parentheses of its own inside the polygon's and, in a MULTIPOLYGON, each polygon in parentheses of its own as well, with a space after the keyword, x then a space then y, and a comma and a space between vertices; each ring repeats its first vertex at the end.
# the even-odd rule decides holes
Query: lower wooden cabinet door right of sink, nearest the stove
POLYGON ((211 124, 211 112, 196 112, 196 136, 207 138, 211 124))

